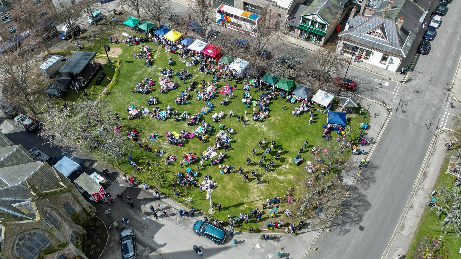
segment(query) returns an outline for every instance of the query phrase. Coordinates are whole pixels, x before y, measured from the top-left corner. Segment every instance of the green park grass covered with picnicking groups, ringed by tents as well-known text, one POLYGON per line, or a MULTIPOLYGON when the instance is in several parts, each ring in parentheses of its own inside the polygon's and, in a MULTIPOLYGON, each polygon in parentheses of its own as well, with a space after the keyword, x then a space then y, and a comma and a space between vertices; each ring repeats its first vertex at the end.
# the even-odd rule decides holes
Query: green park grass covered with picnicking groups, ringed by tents
MULTIPOLYGON (((98 35, 97 38, 93 39, 93 46, 89 46, 85 51, 96 51, 98 53, 103 53, 102 48, 103 44, 108 43, 108 36, 112 35, 113 38, 116 36, 122 40, 121 33, 127 32, 133 34, 132 30, 128 30, 126 27, 114 28, 112 31, 107 31, 106 33, 98 35)), ((127 129, 136 127, 140 132, 140 140, 145 144, 150 144, 151 147, 158 147, 165 150, 165 153, 176 155, 178 161, 182 159, 183 154, 189 153, 189 151, 199 154, 207 149, 207 146, 214 145, 215 134, 219 132, 219 124, 225 124, 225 127, 232 127, 234 133, 231 135, 233 140, 231 142, 231 148, 226 152, 226 159, 224 164, 233 164, 236 168, 233 174, 222 175, 219 173, 218 166, 211 167, 209 161, 204 163, 204 168, 200 170, 199 181, 203 179, 203 175, 207 172, 210 174, 213 180, 215 180, 218 185, 212 193, 212 200, 217 203, 221 203, 222 209, 221 212, 216 211, 214 215, 219 219, 226 220, 227 214, 236 216, 238 213, 249 213, 249 210, 255 207, 262 208, 262 202, 266 201, 268 197, 272 196, 284 196, 289 187, 295 187, 295 198, 296 194, 299 193, 296 191, 296 186, 299 186, 299 181, 303 181, 304 170, 303 165, 296 166, 293 162, 293 158, 297 155, 300 147, 303 145, 304 141, 307 140, 309 144, 307 149, 312 149, 312 147, 325 148, 326 142, 321 138, 321 132, 323 130, 322 124, 326 124, 326 115, 324 113, 314 113, 314 120, 311 125, 309 125, 308 119, 309 115, 300 115, 295 117, 291 115, 291 111, 295 107, 299 107, 298 104, 289 104, 284 102, 280 98, 272 100, 270 103, 269 117, 264 122, 255 122, 251 121, 251 114, 253 112, 252 107, 245 108, 242 104, 241 99, 243 95, 242 82, 237 86, 235 92, 235 98, 229 100, 229 104, 226 106, 220 105, 222 100, 222 95, 217 93, 214 100, 212 100, 214 106, 211 113, 202 116, 202 119, 205 119, 208 123, 212 124, 214 127, 214 132, 212 136, 207 140, 207 143, 203 144, 196 138, 186 140, 183 146, 178 147, 176 145, 167 144, 165 138, 166 131, 177 131, 181 129, 193 132, 195 127, 188 127, 185 121, 175 122, 172 119, 167 121, 159 121, 150 116, 145 116, 142 119, 127 120, 126 108, 129 105, 134 105, 139 109, 147 107, 146 98, 149 96, 156 96, 159 99, 159 107, 162 110, 166 110, 167 105, 171 105, 172 110, 178 110, 179 113, 182 113, 183 110, 188 111, 189 115, 196 114, 201 107, 204 105, 203 101, 195 100, 195 92, 191 93, 191 98, 189 99, 189 104, 187 105, 176 105, 174 99, 179 95, 187 86, 191 80, 187 80, 186 84, 183 85, 183 81, 179 81, 177 77, 174 77, 172 80, 179 83, 179 87, 171 91, 162 94, 159 91, 159 84, 156 82, 154 85, 154 91, 149 95, 141 95, 138 93, 132 93, 131 88, 135 88, 136 81, 143 81, 144 77, 153 78, 154 81, 158 81, 161 73, 160 69, 169 68, 167 60, 172 57, 175 61, 175 64, 171 66, 171 69, 174 72, 179 72, 181 69, 186 68, 178 58, 176 54, 165 53, 165 50, 154 45, 153 42, 149 42, 151 46, 153 57, 153 65, 150 67, 144 66, 144 59, 134 59, 132 58, 133 52, 139 52, 140 46, 128 46, 126 44, 112 44, 111 48, 119 47, 122 49, 122 54, 119 55, 120 58, 120 70, 118 77, 115 81, 114 86, 111 91, 106 95, 106 101, 109 104, 109 109, 112 112, 118 112, 118 114, 123 117, 123 120, 120 123, 123 125, 124 129, 122 130, 121 136, 124 136, 124 133, 127 129), (282 106, 286 105, 288 109, 283 110, 282 106), (229 111, 232 110, 234 115, 244 115, 245 110, 247 115, 245 115, 245 120, 247 121, 244 126, 242 123, 237 122, 236 118, 229 117, 229 111), (214 113, 219 113, 219 111, 225 112, 225 119, 220 122, 213 122, 211 115, 214 113), (157 132, 160 135, 159 140, 154 143, 151 143, 148 139, 148 136, 151 132, 157 132), (276 148, 282 146, 284 149, 283 155, 279 161, 275 161, 274 168, 271 168, 268 172, 264 173, 263 167, 258 167, 257 162, 261 158, 261 155, 264 152, 263 149, 257 148, 258 152, 256 156, 252 155, 252 149, 258 146, 258 142, 266 137, 267 143, 270 143, 272 140, 276 141, 276 148), (211 142, 210 142, 211 140, 211 142), (250 166, 246 165, 246 159, 250 157, 251 164, 250 166), (249 179, 247 182, 243 183, 242 175, 236 173, 239 167, 244 168, 244 172, 249 174, 249 179), (251 177, 251 170, 258 170, 258 174, 261 175, 261 178, 264 184, 257 184, 256 178, 251 177)), ((204 79, 206 82, 211 81, 211 76, 201 73, 198 70, 198 66, 187 67, 193 79, 197 82, 204 79)), ((235 81, 231 82, 231 85, 234 85, 235 81)), ((219 82, 218 90, 224 86, 224 82, 219 82)), ((100 91, 104 86, 94 86, 93 88, 100 87, 100 91)), ((194 89, 196 90, 196 88, 194 89)), ((98 89, 93 89, 94 92, 98 92, 98 89)), ((260 92, 254 93, 255 89, 252 89, 250 93, 254 98, 258 98, 260 92)), ((148 108, 152 110, 154 106, 149 106, 148 108)), ((353 120, 359 122, 364 121, 365 119, 361 116, 353 117, 353 120)), ((369 120, 369 119, 367 119, 369 120)), ((333 143, 337 145, 335 141, 337 135, 336 132, 332 133, 333 143)), ((129 141, 129 140, 127 140, 129 141)), ((224 151, 224 150, 223 150, 224 151)), ((270 161, 275 155, 276 149, 273 149, 271 154, 267 155, 266 162, 270 161)), ((159 159, 164 159, 163 157, 155 156, 154 152, 146 152, 144 149, 139 149, 136 143, 133 143, 132 154, 133 159, 140 166, 145 166, 146 160, 157 161, 159 159)), ((301 154, 305 159, 313 161, 313 156, 309 155, 308 152, 304 151, 301 154)), ((349 157, 349 154, 344 154, 344 159, 349 157)), ((198 162, 197 162, 198 163, 198 162)), ((127 162, 127 158, 121 160, 120 167, 130 173, 135 173, 134 168, 130 166, 127 162)), ((172 174, 176 174, 177 171, 185 171, 186 168, 181 169, 178 162, 169 166, 171 172, 165 173, 165 176, 168 179, 172 178, 172 174)), ((195 164, 192 169, 196 169, 195 164)), ((172 188, 169 181, 166 182, 166 188, 162 188, 164 192, 172 196, 172 188)), ((189 187, 189 190, 181 190, 181 195, 179 200, 183 201, 183 198, 192 197, 191 206, 194 206, 198 210, 207 211, 209 208, 209 201, 206 199, 206 193, 200 192, 199 189, 193 190, 193 186, 189 187), (184 191, 188 193, 184 193, 184 191)), ((174 196, 174 198, 177 198, 174 196)), ((279 212, 284 209, 284 204, 281 205, 279 212)), ((277 217, 282 216, 283 213, 278 213, 277 217)), ((269 216, 267 212, 263 214, 264 220, 268 220, 269 216)), ((278 218, 277 218, 278 219, 278 218)), ((277 220, 276 219, 276 220, 277 220)), ((285 222, 290 222, 290 220, 285 219, 285 222)), ((256 224, 245 224, 245 228, 248 228, 250 225, 253 225, 254 228, 262 228, 265 223, 256 223, 256 224)))

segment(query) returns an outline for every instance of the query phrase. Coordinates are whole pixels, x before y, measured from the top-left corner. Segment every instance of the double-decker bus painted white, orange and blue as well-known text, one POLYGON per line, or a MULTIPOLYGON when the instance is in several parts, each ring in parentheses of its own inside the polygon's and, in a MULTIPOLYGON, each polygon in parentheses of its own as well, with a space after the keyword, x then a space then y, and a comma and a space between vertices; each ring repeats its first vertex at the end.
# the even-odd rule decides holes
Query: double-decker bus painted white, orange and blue
POLYGON ((216 23, 223 27, 258 35, 258 20, 260 16, 255 13, 243 11, 232 6, 220 5, 216 8, 216 23))

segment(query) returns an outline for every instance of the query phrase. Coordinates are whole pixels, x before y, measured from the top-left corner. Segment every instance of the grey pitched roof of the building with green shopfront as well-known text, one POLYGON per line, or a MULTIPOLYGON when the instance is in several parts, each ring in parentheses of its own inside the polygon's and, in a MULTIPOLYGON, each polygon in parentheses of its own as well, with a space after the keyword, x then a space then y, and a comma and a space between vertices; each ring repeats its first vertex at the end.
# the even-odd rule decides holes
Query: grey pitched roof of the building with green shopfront
POLYGON ((301 16, 317 14, 326 23, 330 24, 338 12, 343 10, 347 0, 314 0, 301 16))

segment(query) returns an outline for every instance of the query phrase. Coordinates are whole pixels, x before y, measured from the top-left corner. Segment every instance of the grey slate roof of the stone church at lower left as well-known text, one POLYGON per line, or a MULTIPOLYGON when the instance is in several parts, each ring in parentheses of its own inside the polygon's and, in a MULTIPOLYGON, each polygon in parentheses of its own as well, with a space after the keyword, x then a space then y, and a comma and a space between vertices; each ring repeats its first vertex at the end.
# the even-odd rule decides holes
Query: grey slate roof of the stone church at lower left
POLYGON ((6 222, 35 219, 29 201, 32 194, 26 182, 43 191, 62 185, 51 167, 34 161, 22 146, 2 146, 9 144, 5 138, 0 132, 0 219, 6 222))

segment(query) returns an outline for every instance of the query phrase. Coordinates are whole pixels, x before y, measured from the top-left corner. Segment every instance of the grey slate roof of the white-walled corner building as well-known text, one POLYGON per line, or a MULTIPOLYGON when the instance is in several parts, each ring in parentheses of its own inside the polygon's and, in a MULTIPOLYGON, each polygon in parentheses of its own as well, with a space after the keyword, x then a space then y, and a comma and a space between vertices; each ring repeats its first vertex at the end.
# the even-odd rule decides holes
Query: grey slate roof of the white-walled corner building
MULTIPOLYGON (((384 6, 385 7, 385 6, 384 6)), ((360 42, 384 52, 392 53, 399 57, 406 57, 413 41, 420 29, 420 20, 423 18, 424 10, 409 0, 395 0, 391 10, 387 10, 384 17, 381 17, 384 10, 374 12, 371 17, 357 15, 349 21, 348 30, 340 33, 338 37, 352 42, 360 42), (396 20, 403 17, 402 27, 396 26, 396 20), (366 35, 373 29, 380 28, 385 34, 386 40, 366 35)))

